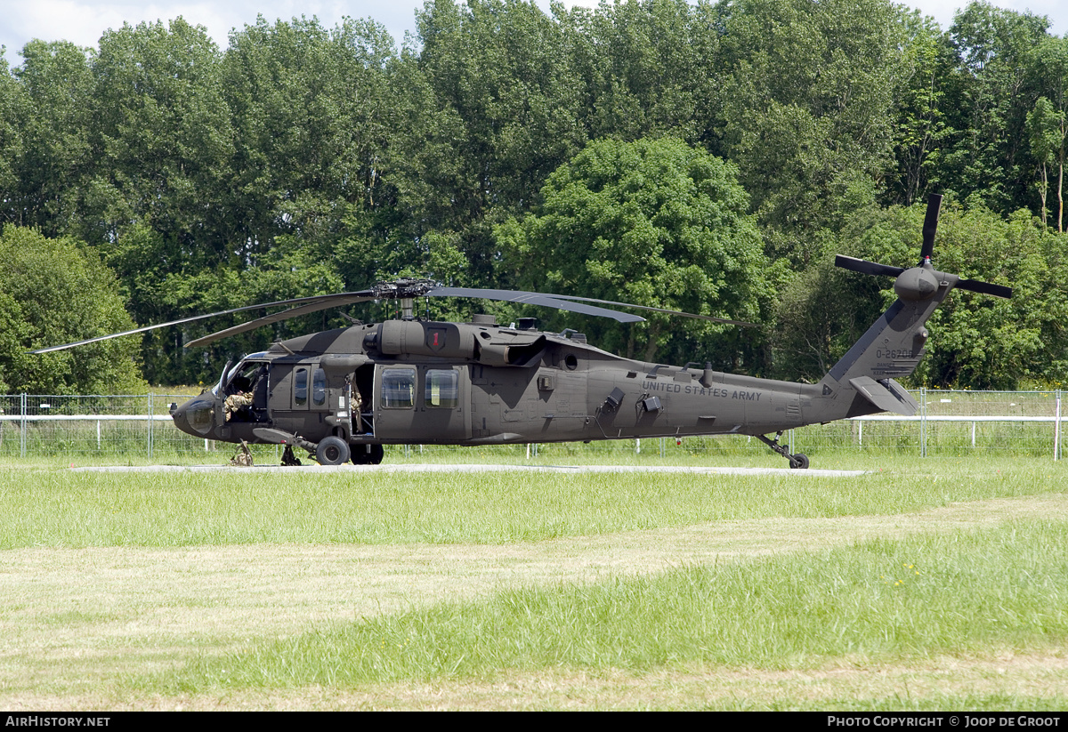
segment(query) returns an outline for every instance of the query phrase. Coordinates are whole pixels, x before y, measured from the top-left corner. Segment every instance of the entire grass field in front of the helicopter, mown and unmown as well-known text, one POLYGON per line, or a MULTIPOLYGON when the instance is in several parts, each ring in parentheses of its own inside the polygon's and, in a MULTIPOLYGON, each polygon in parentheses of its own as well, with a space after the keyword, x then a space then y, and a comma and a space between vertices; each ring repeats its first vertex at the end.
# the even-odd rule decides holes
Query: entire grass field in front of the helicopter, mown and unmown
POLYGON ((1068 467, 816 466, 7 462, 0 707, 1068 707, 1068 467))

